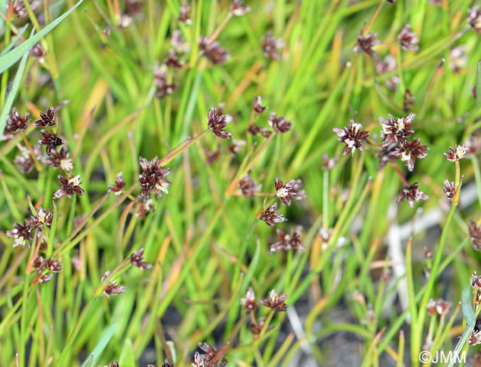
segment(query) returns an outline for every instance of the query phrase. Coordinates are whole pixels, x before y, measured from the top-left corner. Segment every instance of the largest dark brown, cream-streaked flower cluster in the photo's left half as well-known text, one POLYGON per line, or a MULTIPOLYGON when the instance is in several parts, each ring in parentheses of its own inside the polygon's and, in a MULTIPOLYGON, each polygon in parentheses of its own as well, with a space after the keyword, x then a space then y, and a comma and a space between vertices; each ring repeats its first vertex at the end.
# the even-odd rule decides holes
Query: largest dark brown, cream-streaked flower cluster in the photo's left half
POLYGON ((142 167, 142 173, 139 175, 140 186, 142 187, 141 196, 147 198, 150 196, 150 192, 158 197, 168 194, 168 187, 171 182, 166 179, 166 176, 170 175, 170 169, 161 168, 157 156, 150 162, 144 157, 139 157, 139 163, 142 167))

